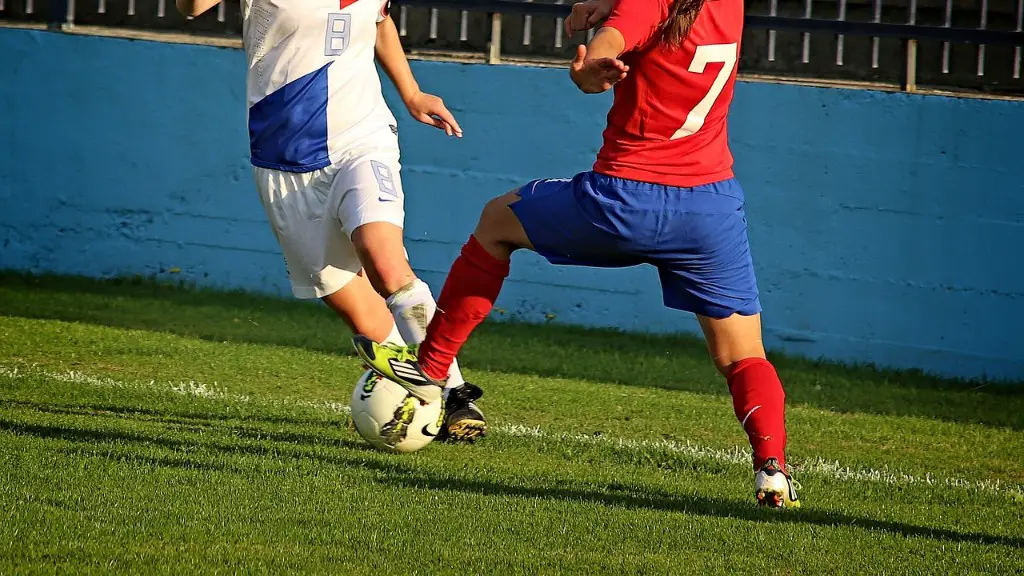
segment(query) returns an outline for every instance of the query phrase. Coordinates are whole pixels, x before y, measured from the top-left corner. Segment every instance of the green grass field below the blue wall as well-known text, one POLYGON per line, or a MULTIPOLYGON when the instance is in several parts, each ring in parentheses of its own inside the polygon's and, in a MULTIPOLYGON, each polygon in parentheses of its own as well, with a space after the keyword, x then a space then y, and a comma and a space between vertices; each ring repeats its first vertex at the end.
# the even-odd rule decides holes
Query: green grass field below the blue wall
POLYGON ((0 275, 0 574, 1024 573, 1024 386, 779 359, 804 507, 773 511, 696 340, 484 325, 493 434, 399 456, 349 429, 347 338, 0 275))

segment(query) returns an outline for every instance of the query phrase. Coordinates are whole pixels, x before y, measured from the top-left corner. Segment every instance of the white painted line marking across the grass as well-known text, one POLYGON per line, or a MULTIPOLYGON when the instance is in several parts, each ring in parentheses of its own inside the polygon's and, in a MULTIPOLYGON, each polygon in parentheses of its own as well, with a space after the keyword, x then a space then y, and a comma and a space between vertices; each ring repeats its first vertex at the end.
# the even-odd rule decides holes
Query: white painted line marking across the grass
MULTIPOLYGON (((0 365, 0 377, 14 379, 30 376, 42 376, 59 382, 86 384, 90 386, 142 389, 161 393, 171 392, 181 396, 223 400, 228 402, 252 402, 276 407, 294 406, 311 408, 314 410, 324 410, 343 415, 348 415, 350 412, 348 406, 340 402, 327 400, 309 401, 297 399, 258 398, 249 395, 228 393, 226 388, 219 387, 216 382, 213 384, 204 384, 195 380, 181 380, 178 382, 157 382, 156 380, 148 380, 133 382, 115 380, 108 377, 91 376, 74 370, 51 372, 44 369, 38 369, 35 366, 30 366, 28 368, 10 368, 0 365)), ((495 425, 492 426, 490 429, 499 435, 510 436, 513 438, 568 442, 580 445, 606 446, 614 450, 622 451, 656 450, 670 454, 686 456, 695 460, 710 460, 737 466, 750 466, 751 462, 750 451, 746 448, 738 446, 730 449, 721 449, 674 440, 633 440, 579 433, 551 433, 541 429, 539 426, 524 426, 511 423, 495 425)), ((958 488, 994 494, 1009 494, 1015 497, 1024 495, 1024 486, 1005 483, 998 480, 966 480, 958 478, 939 478, 932 475, 915 476, 900 470, 889 469, 887 467, 883 467, 881 469, 854 468, 843 465, 837 460, 825 460, 824 458, 801 460, 798 463, 794 463, 794 469, 800 475, 820 476, 838 481, 876 482, 890 486, 936 486, 958 488)))

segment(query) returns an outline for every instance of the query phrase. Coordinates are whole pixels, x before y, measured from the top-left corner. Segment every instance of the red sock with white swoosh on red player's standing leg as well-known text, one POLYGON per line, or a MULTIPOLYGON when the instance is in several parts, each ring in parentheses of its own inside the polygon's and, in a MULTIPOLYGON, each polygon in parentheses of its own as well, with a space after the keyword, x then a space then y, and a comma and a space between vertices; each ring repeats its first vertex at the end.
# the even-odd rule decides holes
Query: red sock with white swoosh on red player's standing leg
POLYGON ((785 393, 778 373, 763 358, 746 358, 729 374, 732 407, 754 449, 754 469, 777 458, 785 469, 785 393))

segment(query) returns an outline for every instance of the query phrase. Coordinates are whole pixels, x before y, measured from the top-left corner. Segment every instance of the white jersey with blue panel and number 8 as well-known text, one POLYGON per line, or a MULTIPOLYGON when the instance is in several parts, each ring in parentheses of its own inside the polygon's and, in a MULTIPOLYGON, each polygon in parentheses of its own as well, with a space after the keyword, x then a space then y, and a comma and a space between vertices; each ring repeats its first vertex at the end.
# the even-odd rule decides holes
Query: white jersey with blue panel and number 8
POLYGON ((246 96, 255 166, 310 172, 375 135, 394 115, 374 63, 389 0, 243 0, 246 96))

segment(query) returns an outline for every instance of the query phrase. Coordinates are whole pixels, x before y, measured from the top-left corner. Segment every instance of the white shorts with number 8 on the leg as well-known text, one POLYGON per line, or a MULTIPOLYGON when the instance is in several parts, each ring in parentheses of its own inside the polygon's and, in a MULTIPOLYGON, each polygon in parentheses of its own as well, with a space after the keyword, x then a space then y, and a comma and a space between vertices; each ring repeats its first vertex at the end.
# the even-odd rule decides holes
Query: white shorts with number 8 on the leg
POLYGON ((297 298, 322 298, 362 270, 351 234, 406 219, 397 147, 366 149, 312 172, 253 167, 297 298))

